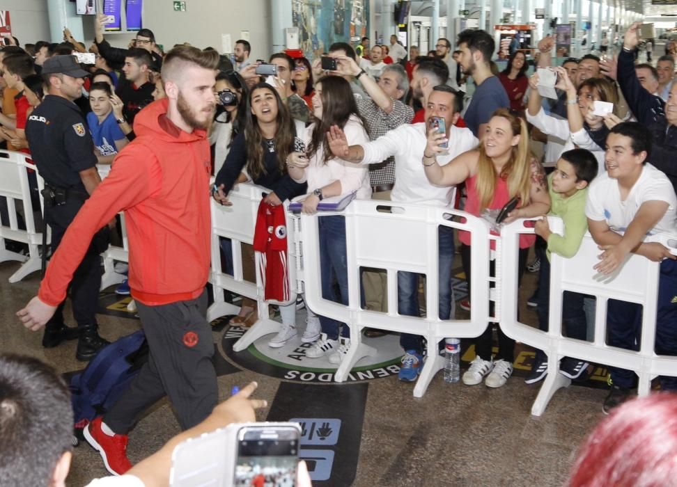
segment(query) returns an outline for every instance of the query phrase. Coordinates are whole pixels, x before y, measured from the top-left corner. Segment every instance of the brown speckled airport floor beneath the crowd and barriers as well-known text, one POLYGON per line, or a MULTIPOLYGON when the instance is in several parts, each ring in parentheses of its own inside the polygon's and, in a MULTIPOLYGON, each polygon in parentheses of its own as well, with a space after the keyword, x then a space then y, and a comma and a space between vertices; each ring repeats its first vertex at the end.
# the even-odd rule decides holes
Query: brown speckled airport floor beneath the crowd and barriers
MULTIPOLYGON (((75 342, 43 349, 42 333, 20 325, 15 311, 35 294, 39 276, 33 273, 10 285, 8 277, 17 266, 0 263, 0 351, 36 356, 64 374, 83 369, 86 364, 75 360, 75 342)), ((535 282, 535 274, 525 274, 522 303, 535 282)), ((102 293, 100 333, 109 340, 141 325, 125 304, 112 289, 102 293)), ((462 317, 460 308, 457 312, 462 317)), ((523 305, 520 313, 525 322, 536 324, 533 310, 523 305)), ((70 317, 70 308, 65 316, 70 317)), ((332 382, 328 362, 295 365, 307 348, 300 342, 267 351, 263 340, 235 353, 233 342, 244 330, 218 321, 214 325, 219 398, 228 397, 234 385, 257 381, 256 396, 269 404, 258 411, 258 420, 303 423, 302 456, 314 477, 325 479, 314 481, 316 486, 561 486, 577 446, 602 418, 607 391, 600 368, 586 383, 559 390, 542 416, 532 416, 538 385, 527 385, 523 378, 533 351, 520 344, 515 374, 504 387, 447 384, 440 372, 419 399, 412 394, 414 383, 398 381, 397 337, 373 339, 388 352, 372 360, 378 363, 359 362, 349 380, 338 384, 332 382)), ((466 367, 473 352, 465 342, 463 348, 466 367)), ((141 461, 178 431, 169 402, 159 401, 130 433, 130 460, 141 461)), ((106 474, 85 442, 75 448, 69 486, 85 486, 106 474)))

